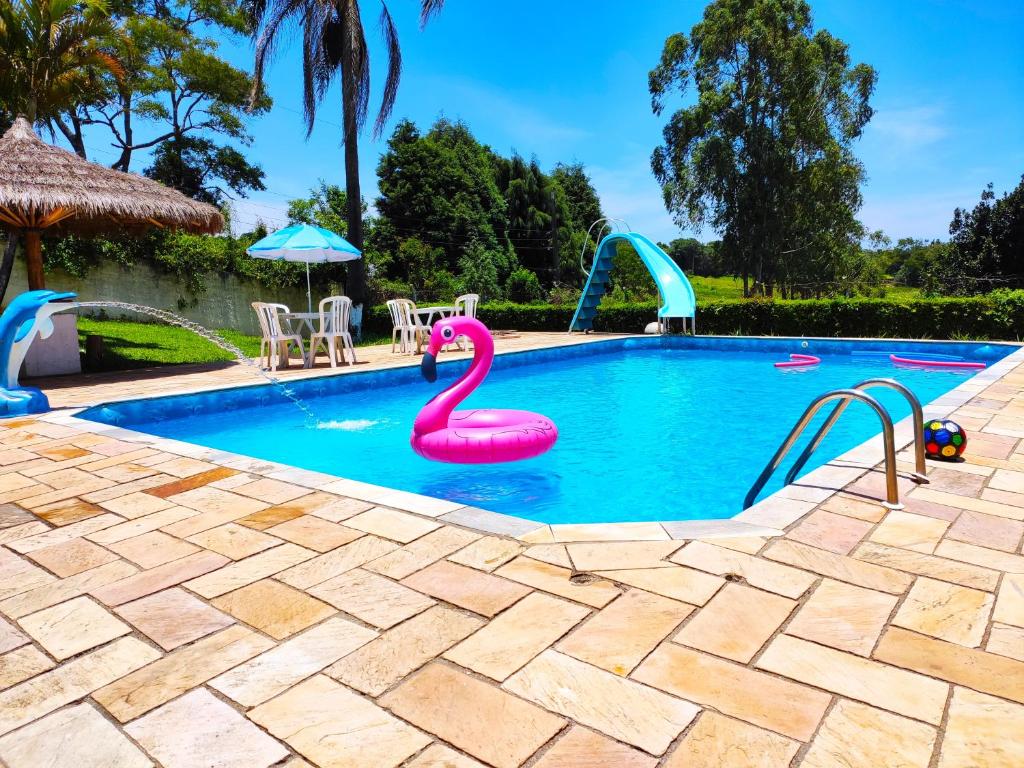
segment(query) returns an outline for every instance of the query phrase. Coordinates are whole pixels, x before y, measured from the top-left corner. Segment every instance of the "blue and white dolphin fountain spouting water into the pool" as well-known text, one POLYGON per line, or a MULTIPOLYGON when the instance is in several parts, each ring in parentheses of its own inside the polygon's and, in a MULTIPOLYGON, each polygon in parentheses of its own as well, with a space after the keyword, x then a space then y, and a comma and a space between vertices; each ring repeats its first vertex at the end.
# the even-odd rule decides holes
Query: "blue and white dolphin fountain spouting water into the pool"
POLYGON ((0 417, 49 411, 49 400, 42 390, 23 387, 17 375, 32 342, 53 333, 50 315, 70 308, 59 302, 74 298, 73 293, 27 291, 0 314, 0 417))

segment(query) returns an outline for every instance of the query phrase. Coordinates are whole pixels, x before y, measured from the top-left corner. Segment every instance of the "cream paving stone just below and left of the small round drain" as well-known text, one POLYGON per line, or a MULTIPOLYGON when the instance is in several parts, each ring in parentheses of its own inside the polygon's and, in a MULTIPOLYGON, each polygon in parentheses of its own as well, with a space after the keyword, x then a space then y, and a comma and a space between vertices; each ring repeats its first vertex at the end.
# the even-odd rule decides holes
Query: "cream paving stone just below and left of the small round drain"
POLYGON ((583 605, 535 592, 449 650, 444 657, 502 681, 589 613, 583 605))

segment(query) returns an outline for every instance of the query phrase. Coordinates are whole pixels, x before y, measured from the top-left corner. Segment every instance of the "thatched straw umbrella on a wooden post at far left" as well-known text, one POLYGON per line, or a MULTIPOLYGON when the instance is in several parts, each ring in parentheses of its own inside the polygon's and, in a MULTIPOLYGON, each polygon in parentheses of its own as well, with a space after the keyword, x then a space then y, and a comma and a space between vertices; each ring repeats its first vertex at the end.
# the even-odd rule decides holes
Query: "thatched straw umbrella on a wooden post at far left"
POLYGON ((44 287, 44 229, 98 234, 159 226, 213 233, 223 225, 213 206, 47 144, 24 117, 0 138, 0 227, 24 234, 32 290, 44 287))

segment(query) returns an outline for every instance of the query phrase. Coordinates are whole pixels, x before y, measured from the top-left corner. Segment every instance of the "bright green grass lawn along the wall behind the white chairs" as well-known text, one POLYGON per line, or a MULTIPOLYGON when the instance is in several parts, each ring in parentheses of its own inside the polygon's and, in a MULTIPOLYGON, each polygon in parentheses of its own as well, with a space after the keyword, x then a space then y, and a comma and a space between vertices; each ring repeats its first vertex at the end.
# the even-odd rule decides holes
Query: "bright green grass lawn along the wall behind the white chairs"
MULTIPOLYGON (((250 357, 259 354, 259 337, 228 329, 216 332, 250 357)), ((79 317, 79 345, 85 349, 85 337, 103 337, 101 371, 126 371, 151 366, 173 366, 181 362, 222 362, 233 360, 229 352, 220 349, 190 331, 174 326, 125 321, 100 321, 79 317)), ((359 346, 379 344, 381 338, 364 338, 359 346)))

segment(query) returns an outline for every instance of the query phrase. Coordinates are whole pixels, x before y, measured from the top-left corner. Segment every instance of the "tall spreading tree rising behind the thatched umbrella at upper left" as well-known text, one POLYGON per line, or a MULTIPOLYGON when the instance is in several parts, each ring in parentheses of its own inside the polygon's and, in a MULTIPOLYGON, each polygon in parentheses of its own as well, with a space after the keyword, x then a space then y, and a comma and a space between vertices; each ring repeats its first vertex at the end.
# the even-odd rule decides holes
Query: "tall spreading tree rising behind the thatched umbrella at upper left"
MULTIPOLYGON (((56 116, 56 129, 83 157, 86 128, 105 130, 117 151, 112 167, 121 171, 152 151, 147 175, 205 202, 262 189, 263 171, 234 146, 251 141, 246 111, 253 80, 218 49, 218 38, 251 31, 237 0, 111 2, 124 30, 111 44, 125 76, 104 78, 103 97, 56 116)), ((260 92, 251 111, 269 106, 260 92)))

